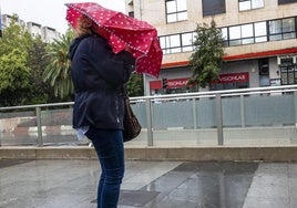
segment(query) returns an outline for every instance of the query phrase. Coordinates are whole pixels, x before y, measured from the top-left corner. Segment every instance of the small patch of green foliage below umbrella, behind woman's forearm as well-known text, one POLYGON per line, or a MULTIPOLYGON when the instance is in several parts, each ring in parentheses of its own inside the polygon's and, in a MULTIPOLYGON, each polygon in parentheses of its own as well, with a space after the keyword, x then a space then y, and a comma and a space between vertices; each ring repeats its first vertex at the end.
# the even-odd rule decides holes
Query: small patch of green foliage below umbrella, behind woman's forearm
POLYGON ((143 96, 143 76, 133 73, 126 84, 129 96, 143 96))

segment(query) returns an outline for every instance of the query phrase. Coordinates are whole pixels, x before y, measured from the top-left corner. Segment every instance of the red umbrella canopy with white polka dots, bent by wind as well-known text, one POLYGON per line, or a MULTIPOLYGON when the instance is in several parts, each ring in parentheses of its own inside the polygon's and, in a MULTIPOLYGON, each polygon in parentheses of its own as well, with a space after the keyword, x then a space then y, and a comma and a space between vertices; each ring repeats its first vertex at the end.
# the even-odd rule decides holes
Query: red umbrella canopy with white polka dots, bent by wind
MULTIPOLYGON (((94 2, 65 6, 68 7, 66 20, 73 28, 76 28, 76 22, 82 14, 91 18, 107 33, 114 53, 129 48, 136 59, 137 73, 158 76, 163 53, 154 27, 94 2)), ((100 30, 98 32, 100 33, 100 30)))

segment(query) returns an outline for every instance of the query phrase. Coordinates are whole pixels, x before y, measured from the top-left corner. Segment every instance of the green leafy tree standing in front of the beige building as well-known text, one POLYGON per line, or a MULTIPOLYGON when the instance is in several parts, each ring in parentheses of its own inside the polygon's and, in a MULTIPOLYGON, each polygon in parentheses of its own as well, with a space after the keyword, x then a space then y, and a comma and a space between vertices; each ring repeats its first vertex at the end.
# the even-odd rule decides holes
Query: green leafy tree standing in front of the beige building
POLYGON ((206 23, 197 24, 196 32, 195 51, 190 58, 193 74, 188 84, 205 87, 218 79, 224 55, 223 39, 214 20, 211 27, 206 23))

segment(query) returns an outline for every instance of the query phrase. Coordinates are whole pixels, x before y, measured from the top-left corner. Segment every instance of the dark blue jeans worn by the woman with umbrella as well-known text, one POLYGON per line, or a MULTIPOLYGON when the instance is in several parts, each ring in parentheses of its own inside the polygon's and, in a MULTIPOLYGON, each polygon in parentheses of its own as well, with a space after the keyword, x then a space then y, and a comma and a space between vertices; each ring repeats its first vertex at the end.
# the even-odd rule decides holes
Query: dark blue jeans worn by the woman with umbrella
POLYGON ((122 131, 90 127, 85 136, 92 141, 102 169, 98 185, 98 208, 116 208, 125 169, 122 131))

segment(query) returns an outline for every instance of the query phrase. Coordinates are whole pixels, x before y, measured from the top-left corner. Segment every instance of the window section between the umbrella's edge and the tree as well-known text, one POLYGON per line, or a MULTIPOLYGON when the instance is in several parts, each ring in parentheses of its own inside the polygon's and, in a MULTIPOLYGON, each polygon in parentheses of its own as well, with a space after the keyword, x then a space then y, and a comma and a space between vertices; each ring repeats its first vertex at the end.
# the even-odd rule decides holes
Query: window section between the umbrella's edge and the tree
POLYGON ((160 37, 160 45, 164 54, 193 51, 195 32, 160 37))

